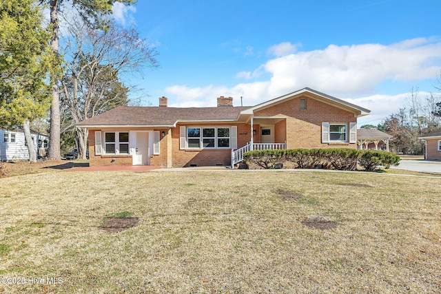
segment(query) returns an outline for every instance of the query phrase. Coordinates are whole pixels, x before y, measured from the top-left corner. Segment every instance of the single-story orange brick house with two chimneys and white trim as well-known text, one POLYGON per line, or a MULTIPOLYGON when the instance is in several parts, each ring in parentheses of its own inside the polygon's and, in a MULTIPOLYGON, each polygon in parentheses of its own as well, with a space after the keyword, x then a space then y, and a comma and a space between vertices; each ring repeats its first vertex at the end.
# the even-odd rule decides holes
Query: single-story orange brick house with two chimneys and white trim
POLYGON ((116 107, 83 120, 90 165, 234 165, 250 149, 357 148, 369 110, 304 88, 252 107, 116 107))

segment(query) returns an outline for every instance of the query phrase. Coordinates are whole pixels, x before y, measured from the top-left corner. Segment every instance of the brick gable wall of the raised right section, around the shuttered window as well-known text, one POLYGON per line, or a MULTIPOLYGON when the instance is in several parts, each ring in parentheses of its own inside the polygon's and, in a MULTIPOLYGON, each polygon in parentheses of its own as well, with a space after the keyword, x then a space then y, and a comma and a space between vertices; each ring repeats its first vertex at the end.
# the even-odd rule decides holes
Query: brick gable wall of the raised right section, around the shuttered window
MULTIPOLYGON (((300 96, 285 103, 268 107, 254 116, 284 116, 285 126, 279 122, 275 126, 275 140, 283 140, 280 132, 287 130, 288 149, 296 148, 356 148, 356 143, 325 143, 322 144, 322 123, 356 123, 357 118, 352 112, 322 103, 308 96, 300 96), (300 98, 306 99, 307 109, 300 110, 300 98)), ((347 134, 349 136, 349 134, 347 134)), ((282 143, 282 142, 280 142, 282 143)))

